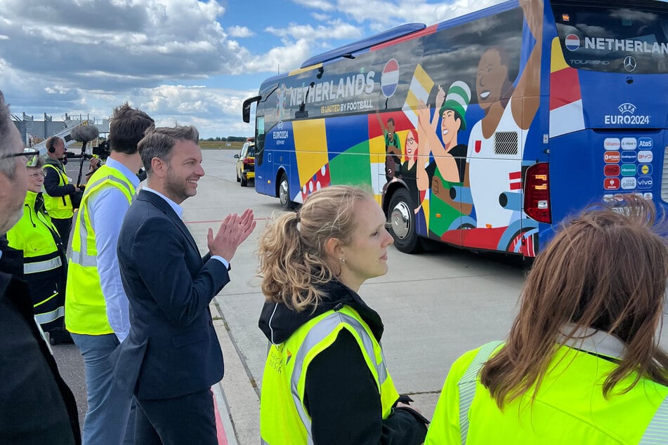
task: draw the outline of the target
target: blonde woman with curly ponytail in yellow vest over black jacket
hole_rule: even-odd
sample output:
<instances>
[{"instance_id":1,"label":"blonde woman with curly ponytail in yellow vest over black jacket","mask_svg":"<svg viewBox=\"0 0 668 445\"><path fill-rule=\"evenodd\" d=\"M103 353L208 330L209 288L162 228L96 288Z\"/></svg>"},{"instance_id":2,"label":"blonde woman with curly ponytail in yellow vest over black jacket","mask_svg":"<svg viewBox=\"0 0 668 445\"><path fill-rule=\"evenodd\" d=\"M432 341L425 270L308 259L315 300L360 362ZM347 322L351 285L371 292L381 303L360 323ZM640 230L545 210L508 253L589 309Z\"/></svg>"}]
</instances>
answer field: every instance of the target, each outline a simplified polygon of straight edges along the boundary
<instances>
[{"instance_id":1,"label":"blonde woman with curly ponytail in yellow vest over black jacket","mask_svg":"<svg viewBox=\"0 0 668 445\"><path fill-rule=\"evenodd\" d=\"M424 440L426 420L387 371L381 318L358 294L386 274L390 244L380 206L346 186L314 192L261 236L263 444Z\"/></svg>"}]
</instances>

